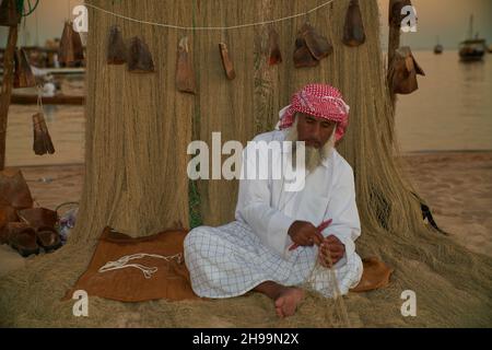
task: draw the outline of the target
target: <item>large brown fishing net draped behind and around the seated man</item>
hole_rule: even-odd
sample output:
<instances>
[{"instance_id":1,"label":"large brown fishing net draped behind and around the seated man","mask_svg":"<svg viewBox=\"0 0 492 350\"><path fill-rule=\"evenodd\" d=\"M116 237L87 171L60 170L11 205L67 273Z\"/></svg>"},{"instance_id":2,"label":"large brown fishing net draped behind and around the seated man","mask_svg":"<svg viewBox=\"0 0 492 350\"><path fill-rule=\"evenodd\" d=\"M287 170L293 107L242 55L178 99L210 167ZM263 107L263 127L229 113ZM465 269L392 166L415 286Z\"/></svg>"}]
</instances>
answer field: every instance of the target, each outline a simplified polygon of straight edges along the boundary
<instances>
[{"instance_id":1,"label":"large brown fishing net draped behind and around the seated man","mask_svg":"<svg viewBox=\"0 0 492 350\"><path fill-rule=\"evenodd\" d=\"M109 1L91 0L112 12L186 26L225 26L303 13L319 0ZM429 230L411 184L401 171L394 140L393 106L379 44L376 0L360 1L365 43L342 44L349 0L312 12L309 23L326 35L333 52L315 68L294 69L292 50L300 16L274 24L281 65L269 66L269 26L186 32L117 19L89 8L85 180L79 220L68 244L0 281L0 323L7 326L157 327L332 327L340 323L332 301L308 292L295 316L279 320L261 294L218 301L165 300L120 303L90 298L89 317L74 317L73 301L61 301L87 268L96 238L110 225L136 235L157 233L177 220L188 222L186 148L190 140L211 144L246 142L271 130L291 94L311 82L337 86L351 106L339 152L355 174L362 222L358 252L395 269L391 283L343 296L351 326L490 326L492 261ZM140 36L152 52L155 72L127 72L106 65L105 35L113 25L125 38ZM177 43L189 35L197 95L175 89ZM236 78L223 71L218 44L227 45ZM233 218L236 182L198 183L204 223ZM400 296L417 294L417 317L403 317ZM331 316L330 316L331 315ZM332 317L333 316L333 317Z\"/></svg>"}]
</instances>

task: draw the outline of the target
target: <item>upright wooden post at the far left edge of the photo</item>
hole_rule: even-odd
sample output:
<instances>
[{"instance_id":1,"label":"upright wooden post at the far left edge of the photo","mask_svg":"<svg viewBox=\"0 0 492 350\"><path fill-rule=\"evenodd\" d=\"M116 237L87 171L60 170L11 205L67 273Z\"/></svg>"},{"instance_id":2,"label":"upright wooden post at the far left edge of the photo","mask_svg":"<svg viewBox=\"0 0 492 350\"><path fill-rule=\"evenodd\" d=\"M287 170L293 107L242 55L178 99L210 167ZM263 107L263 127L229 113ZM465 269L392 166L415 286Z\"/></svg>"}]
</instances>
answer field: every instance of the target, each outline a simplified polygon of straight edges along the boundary
<instances>
[{"instance_id":1,"label":"upright wooden post at the far left edge of the photo","mask_svg":"<svg viewBox=\"0 0 492 350\"><path fill-rule=\"evenodd\" d=\"M3 56L3 81L0 94L0 171L5 166L7 121L13 81L13 57L17 43L17 26L9 27L9 38Z\"/></svg>"}]
</instances>

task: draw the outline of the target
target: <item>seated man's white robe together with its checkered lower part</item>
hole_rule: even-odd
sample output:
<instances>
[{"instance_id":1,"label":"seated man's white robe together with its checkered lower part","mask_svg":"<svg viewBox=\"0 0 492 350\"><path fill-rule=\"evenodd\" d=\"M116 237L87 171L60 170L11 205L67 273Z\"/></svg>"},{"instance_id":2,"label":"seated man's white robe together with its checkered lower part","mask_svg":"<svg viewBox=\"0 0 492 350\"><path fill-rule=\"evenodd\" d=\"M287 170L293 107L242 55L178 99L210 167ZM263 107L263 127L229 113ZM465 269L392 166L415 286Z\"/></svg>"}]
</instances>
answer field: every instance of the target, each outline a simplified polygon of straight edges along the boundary
<instances>
[{"instance_id":1,"label":"seated man's white robe together with its checkered lower part","mask_svg":"<svg viewBox=\"0 0 492 350\"><path fill-rule=\"evenodd\" d=\"M283 141L285 130L257 136L254 141ZM248 162L248 160L244 160ZM191 285L200 296L241 295L263 281L298 285L311 278L326 296L333 295L328 275L309 276L316 261L316 246L294 250L288 234L296 220L315 226L329 219L321 233L335 235L345 246L345 254L335 265L338 288L345 294L362 276L362 261L354 241L361 234L355 203L353 172L336 151L323 164L307 172L300 191L286 191L282 179L241 179L235 221L219 226L191 230L185 240L185 261Z\"/></svg>"}]
</instances>

